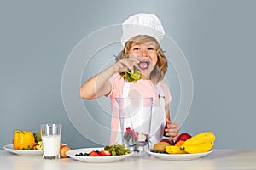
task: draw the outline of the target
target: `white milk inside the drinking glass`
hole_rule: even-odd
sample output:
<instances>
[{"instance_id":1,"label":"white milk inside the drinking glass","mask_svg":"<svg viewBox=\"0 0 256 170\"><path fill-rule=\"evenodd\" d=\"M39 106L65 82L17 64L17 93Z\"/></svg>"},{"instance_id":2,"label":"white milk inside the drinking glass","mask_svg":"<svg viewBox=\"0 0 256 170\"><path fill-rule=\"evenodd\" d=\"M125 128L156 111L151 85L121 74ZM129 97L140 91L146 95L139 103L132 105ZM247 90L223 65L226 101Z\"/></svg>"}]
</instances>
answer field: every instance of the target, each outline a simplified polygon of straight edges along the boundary
<instances>
[{"instance_id":1,"label":"white milk inside the drinking glass","mask_svg":"<svg viewBox=\"0 0 256 170\"><path fill-rule=\"evenodd\" d=\"M59 156L61 135L42 136L44 156Z\"/></svg>"}]
</instances>

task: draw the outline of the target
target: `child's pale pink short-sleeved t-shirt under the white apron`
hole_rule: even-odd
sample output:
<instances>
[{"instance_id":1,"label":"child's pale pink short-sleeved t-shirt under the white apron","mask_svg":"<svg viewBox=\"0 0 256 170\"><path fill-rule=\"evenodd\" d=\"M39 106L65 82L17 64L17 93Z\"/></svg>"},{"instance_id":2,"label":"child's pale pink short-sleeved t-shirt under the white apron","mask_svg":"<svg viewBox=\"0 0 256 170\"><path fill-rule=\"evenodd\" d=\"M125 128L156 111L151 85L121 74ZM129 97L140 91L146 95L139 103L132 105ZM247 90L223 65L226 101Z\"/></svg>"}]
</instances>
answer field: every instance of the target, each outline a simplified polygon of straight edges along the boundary
<instances>
[{"instance_id":1,"label":"child's pale pink short-sleeved t-shirt under the white apron","mask_svg":"<svg viewBox=\"0 0 256 170\"><path fill-rule=\"evenodd\" d=\"M119 74L113 75L110 78L110 82L112 83L112 89L108 96L111 99L112 103L112 119L111 119L111 137L110 144L115 144L117 133L119 130L119 110L118 103L115 98L122 98L123 96L123 88L125 85L124 78L121 78ZM168 105L172 101L172 96L170 94L169 88L167 87L165 82L159 82L160 88L165 95L165 105ZM160 90L154 85L150 80L138 80L136 83L131 82L129 87L130 97L138 97L142 96L143 98L153 98L154 102L159 102L159 94ZM161 96L163 97L163 96Z\"/></svg>"}]
</instances>

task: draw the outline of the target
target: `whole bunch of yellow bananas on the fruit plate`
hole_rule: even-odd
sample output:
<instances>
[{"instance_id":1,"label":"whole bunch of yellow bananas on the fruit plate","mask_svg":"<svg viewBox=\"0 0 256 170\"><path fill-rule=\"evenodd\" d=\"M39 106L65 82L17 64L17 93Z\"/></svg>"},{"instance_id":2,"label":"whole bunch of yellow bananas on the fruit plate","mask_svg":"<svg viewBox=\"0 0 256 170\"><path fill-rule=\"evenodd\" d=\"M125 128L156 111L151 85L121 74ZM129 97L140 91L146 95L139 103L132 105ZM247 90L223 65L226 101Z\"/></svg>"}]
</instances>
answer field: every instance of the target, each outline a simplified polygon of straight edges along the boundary
<instances>
[{"instance_id":1,"label":"whole bunch of yellow bananas on the fruit plate","mask_svg":"<svg viewBox=\"0 0 256 170\"><path fill-rule=\"evenodd\" d=\"M199 133L186 140L181 146L166 146L169 154L203 153L212 150L215 135L212 132Z\"/></svg>"}]
</instances>

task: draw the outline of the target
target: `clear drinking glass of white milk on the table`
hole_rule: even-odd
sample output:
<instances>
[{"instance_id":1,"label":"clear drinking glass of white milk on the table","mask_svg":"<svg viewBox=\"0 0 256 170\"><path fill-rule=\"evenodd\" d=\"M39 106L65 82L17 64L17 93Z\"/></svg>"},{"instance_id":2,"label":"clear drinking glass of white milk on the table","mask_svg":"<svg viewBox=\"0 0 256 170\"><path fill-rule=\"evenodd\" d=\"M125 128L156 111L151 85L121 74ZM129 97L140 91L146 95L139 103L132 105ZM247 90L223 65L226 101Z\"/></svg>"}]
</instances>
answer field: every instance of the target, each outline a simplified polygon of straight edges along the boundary
<instances>
[{"instance_id":1,"label":"clear drinking glass of white milk on the table","mask_svg":"<svg viewBox=\"0 0 256 170\"><path fill-rule=\"evenodd\" d=\"M59 159L61 145L61 124L43 124L40 126L43 141L44 159Z\"/></svg>"}]
</instances>

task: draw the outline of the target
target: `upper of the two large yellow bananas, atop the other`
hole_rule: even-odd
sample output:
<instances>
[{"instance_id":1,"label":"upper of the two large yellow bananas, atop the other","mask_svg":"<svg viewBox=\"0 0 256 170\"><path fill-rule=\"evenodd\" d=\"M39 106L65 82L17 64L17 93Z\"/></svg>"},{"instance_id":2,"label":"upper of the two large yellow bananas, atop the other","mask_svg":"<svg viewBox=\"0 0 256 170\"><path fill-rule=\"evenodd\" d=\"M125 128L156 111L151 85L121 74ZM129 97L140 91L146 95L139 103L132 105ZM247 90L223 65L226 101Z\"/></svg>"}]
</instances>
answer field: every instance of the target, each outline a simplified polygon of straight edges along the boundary
<instances>
[{"instance_id":1,"label":"upper of the two large yellow bananas, atop the other","mask_svg":"<svg viewBox=\"0 0 256 170\"><path fill-rule=\"evenodd\" d=\"M182 147L187 147L191 145L204 144L204 143L214 143L215 135L212 132L204 132L196 134L190 139L186 140Z\"/></svg>"}]
</instances>

